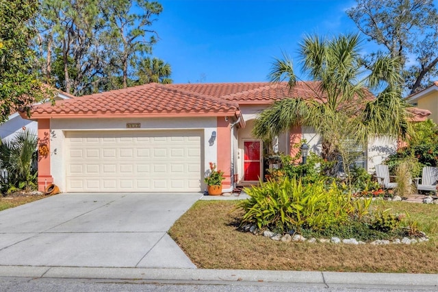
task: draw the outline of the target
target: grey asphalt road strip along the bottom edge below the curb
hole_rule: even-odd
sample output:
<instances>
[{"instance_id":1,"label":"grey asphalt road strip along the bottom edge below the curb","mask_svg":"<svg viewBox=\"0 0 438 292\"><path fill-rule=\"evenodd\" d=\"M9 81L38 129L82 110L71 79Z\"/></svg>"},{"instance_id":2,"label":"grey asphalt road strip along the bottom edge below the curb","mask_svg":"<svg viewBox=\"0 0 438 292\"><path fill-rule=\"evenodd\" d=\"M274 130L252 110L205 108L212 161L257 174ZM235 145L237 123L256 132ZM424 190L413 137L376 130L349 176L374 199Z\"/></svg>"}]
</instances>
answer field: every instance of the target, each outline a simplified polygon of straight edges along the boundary
<instances>
[{"instance_id":1,"label":"grey asphalt road strip along the bottom edge below the curb","mask_svg":"<svg viewBox=\"0 0 438 292\"><path fill-rule=\"evenodd\" d=\"M437 287L407 287L393 285L333 285L278 282L229 282L229 281L145 281L145 280L102 280L66 278L0 278L0 291L437 291Z\"/></svg>"}]
</instances>

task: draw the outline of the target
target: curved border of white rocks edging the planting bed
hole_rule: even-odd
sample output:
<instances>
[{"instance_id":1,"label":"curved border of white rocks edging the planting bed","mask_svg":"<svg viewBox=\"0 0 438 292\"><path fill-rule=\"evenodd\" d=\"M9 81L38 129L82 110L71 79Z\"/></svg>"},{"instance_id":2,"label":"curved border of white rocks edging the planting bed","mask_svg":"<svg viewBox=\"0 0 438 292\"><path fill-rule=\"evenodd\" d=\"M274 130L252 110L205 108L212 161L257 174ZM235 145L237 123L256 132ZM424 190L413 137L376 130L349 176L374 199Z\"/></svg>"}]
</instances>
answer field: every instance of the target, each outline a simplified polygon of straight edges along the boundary
<instances>
[{"instance_id":1,"label":"curved border of white rocks edging the planting bed","mask_svg":"<svg viewBox=\"0 0 438 292\"><path fill-rule=\"evenodd\" d=\"M254 235L263 235L265 237L268 237L272 239L273 241L283 241L283 242L307 242L307 243L333 243L333 244L339 244L344 243L347 245L364 245L367 244L363 241L357 241L356 239L339 239L339 237L333 236L331 239L315 239L312 237L311 239L306 239L304 236L300 234L279 234L272 232L270 230L264 230L263 232L257 228L257 226L252 224L246 224L242 230L245 232L251 232ZM422 232L422 237L420 238L409 238L409 237L403 237L402 239L394 239L392 241L389 241L387 239L377 239L376 241L372 241L368 244L370 245L389 245L389 244L404 244L404 245L411 245L415 243L423 243L426 241L429 241L428 236Z\"/></svg>"}]
</instances>

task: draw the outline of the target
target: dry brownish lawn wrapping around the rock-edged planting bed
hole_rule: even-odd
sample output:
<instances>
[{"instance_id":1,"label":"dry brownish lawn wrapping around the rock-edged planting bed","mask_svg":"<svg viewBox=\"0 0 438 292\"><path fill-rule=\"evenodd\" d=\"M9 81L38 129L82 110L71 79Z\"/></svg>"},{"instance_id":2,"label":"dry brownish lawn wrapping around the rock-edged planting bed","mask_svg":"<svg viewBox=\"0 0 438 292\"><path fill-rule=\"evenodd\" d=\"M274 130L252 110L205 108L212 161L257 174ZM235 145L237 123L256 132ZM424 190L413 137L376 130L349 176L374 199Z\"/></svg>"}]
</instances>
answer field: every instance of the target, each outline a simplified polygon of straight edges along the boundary
<instances>
[{"instance_id":1,"label":"dry brownish lawn wrapping around the rock-edged planting bed","mask_svg":"<svg viewBox=\"0 0 438 292\"><path fill-rule=\"evenodd\" d=\"M384 202L379 208L407 211L430 241L415 245L283 243L240 232L235 202L199 201L169 231L197 267L438 273L438 205Z\"/></svg>"}]
</instances>

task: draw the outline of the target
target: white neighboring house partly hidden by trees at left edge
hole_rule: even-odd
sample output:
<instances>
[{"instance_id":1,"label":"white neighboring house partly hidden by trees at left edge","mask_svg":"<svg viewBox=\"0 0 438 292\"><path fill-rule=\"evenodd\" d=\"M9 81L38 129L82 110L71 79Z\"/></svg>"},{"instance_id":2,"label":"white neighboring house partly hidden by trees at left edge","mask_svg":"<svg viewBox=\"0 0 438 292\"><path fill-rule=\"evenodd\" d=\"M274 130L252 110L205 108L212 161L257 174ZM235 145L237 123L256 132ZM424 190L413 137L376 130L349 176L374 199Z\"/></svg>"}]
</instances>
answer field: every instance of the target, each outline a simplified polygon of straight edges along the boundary
<instances>
[{"instance_id":1,"label":"white neighboring house partly hidden by trees at left edge","mask_svg":"<svg viewBox=\"0 0 438 292\"><path fill-rule=\"evenodd\" d=\"M64 92L57 92L55 100L70 99L73 95ZM23 130L30 130L36 134L38 123L29 119L24 119L18 112L14 112L4 123L0 123L0 138L3 141L10 140L16 136L16 133Z\"/></svg>"}]
</instances>

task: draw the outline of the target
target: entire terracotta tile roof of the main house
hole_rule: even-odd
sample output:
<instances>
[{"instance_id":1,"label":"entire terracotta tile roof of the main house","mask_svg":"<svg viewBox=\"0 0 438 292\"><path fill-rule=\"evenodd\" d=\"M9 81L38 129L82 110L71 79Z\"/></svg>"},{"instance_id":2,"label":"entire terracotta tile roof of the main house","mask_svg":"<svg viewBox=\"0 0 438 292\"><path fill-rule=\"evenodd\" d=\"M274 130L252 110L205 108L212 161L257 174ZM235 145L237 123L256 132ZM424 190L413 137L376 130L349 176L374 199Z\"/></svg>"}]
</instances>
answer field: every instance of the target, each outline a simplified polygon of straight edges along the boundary
<instances>
[{"instance_id":1,"label":"entire terracotta tile roof of the main house","mask_svg":"<svg viewBox=\"0 0 438 292\"><path fill-rule=\"evenodd\" d=\"M374 95L365 90L366 98ZM243 104L272 104L285 97L326 99L320 82L297 82L289 90L285 82L145 84L106 93L96 93L43 104L32 110L31 118L63 117L163 117L233 116ZM424 112L414 112L423 119ZM421 116L421 117L420 117Z\"/></svg>"}]
</instances>

